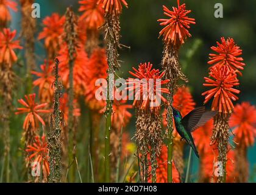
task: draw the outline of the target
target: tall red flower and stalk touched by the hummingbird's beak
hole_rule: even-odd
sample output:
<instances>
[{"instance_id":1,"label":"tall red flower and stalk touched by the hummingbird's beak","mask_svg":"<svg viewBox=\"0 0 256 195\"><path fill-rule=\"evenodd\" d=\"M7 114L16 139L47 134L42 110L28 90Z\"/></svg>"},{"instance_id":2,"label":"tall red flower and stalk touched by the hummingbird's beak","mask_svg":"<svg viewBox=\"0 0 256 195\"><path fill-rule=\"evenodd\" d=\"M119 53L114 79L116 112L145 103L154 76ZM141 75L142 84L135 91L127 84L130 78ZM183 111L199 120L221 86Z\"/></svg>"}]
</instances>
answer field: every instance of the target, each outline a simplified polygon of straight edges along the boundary
<instances>
[{"instance_id":1,"label":"tall red flower and stalk touched by the hummingbird's beak","mask_svg":"<svg viewBox=\"0 0 256 195\"><path fill-rule=\"evenodd\" d=\"M167 116L167 129L168 129L168 182L172 182L172 151L173 151L173 116L171 105L173 103L173 96L177 90L177 82L179 79L188 82L185 74L182 73L182 69L179 64L179 48L185 43L187 37L191 37L188 29L190 24L195 24L194 18L188 18L187 14L191 10L186 10L186 5L180 5L177 0L178 7L172 7L172 11L166 6L163 6L165 15L170 16L169 19L158 19L161 26L165 26L160 31L160 36L163 36L163 59L162 68L165 70L165 79L169 79L167 87L170 93L167 96L169 104L166 105Z\"/></svg>"}]
</instances>

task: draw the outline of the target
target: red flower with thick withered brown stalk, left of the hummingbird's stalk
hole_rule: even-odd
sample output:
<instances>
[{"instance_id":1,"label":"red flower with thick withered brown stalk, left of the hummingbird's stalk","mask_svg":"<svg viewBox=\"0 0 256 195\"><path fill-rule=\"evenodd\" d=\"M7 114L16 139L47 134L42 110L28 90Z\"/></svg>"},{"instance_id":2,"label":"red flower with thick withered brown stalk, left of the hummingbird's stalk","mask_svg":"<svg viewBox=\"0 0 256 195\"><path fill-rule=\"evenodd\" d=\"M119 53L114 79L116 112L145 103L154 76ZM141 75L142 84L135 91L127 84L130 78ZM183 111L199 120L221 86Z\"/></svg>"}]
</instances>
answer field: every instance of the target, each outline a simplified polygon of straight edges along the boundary
<instances>
[{"instance_id":1,"label":"red flower with thick withered brown stalk, left of the hummingbird's stalk","mask_svg":"<svg viewBox=\"0 0 256 195\"><path fill-rule=\"evenodd\" d=\"M133 68L135 73L129 72L136 79L127 79L128 90L135 93L135 101L133 101L137 113L135 138L141 158L139 160L141 182L144 183L148 182L149 165L151 165L152 182L156 182L157 156L160 154L163 141L160 101L166 103L162 93L169 93L167 88L162 88L162 85L169 82L169 80L161 80L165 72L160 73L158 69L152 69L152 66L151 63L141 63L138 69Z\"/></svg>"}]
</instances>

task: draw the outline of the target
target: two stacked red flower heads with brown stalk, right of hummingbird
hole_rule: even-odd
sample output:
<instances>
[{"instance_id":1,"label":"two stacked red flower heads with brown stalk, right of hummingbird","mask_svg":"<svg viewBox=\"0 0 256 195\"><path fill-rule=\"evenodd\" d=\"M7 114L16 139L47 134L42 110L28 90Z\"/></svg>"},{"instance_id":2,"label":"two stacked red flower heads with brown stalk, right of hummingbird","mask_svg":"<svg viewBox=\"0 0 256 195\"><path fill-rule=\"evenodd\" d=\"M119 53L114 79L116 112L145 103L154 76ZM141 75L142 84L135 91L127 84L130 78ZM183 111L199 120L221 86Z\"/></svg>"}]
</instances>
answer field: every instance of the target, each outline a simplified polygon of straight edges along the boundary
<instances>
[{"instance_id":1,"label":"two stacked red flower heads with brown stalk, right of hummingbird","mask_svg":"<svg viewBox=\"0 0 256 195\"><path fill-rule=\"evenodd\" d=\"M243 58L239 57L242 50L235 44L233 38L225 40L221 37L221 43L213 46L212 50L218 54L209 54L210 67L209 77L205 77L205 87L212 87L211 90L202 93L205 96L204 104L213 98L212 110L218 111L214 118L214 128L211 137L211 145L217 144L218 161L221 162L223 171L219 174L218 182L226 182L226 163L229 147L229 117L233 112L233 102L237 101L236 94L240 93L235 87L240 85L237 74L241 75L239 69L245 65Z\"/></svg>"}]
</instances>

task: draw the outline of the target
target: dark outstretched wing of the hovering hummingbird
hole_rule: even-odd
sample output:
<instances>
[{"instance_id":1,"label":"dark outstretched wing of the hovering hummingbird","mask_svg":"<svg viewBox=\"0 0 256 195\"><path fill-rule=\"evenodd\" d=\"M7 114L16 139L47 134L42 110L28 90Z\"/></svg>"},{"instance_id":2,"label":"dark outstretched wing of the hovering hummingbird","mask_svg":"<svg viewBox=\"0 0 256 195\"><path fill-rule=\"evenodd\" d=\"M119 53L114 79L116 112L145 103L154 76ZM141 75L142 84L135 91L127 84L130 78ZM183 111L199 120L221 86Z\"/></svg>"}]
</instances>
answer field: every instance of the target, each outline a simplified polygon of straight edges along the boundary
<instances>
[{"instance_id":1,"label":"dark outstretched wing of the hovering hummingbird","mask_svg":"<svg viewBox=\"0 0 256 195\"><path fill-rule=\"evenodd\" d=\"M188 132L193 132L198 127L203 126L215 115L215 111L205 112L205 107L197 107L183 117L182 124Z\"/></svg>"}]
</instances>

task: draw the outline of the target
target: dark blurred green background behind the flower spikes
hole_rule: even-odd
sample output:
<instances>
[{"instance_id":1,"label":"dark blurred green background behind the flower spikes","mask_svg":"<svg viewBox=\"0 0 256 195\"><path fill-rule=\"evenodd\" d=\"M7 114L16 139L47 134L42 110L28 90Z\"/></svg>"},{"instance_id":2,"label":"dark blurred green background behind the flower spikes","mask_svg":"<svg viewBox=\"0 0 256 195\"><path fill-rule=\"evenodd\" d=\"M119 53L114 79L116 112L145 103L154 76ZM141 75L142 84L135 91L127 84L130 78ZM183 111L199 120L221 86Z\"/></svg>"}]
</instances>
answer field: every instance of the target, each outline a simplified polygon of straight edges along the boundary
<instances>
[{"instance_id":1,"label":"dark blurred green background behind the flower spikes","mask_svg":"<svg viewBox=\"0 0 256 195\"><path fill-rule=\"evenodd\" d=\"M41 21L45 16L51 15L52 12L58 12L61 15L65 13L68 5L73 5L74 10L78 10L78 1L72 0L39 0L35 1L40 4L41 18L38 19L38 32L42 29ZM163 44L161 38L158 39L158 32L162 29L157 19L165 18L163 16L162 5L171 9L177 5L176 0L127 0L129 9L124 9L121 16L121 43L130 46L130 49L122 49L120 60L123 61L119 76L128 77L128 71L132 66L137 66L141 62L151 62L155 68L161 68ZM255 104L256 90L256 1L255 0L187 0L185 2L187 9L192 10L191 18L196 19L196 25L191 25L190 34L187 42L180 49L180 62L183 71L190 82L194 100L197 105L202 105L204 97L201 93L205 91L202 87L204 76L208 74L208 54L210 47L216 45L216 41L224 36L232 37L243 49L243 58L246 66L243 76L239 77L241 90L239 102L249 101ZM215 18L215 4L221 3L224 7L224 18ZM13 13L12 28L20 28L20 13ZM37 43L38 64L43 62L43 43ZM20 98L20 97L19 97ZM210 104L207 104L209 107ZM135 119L129 124L132 132L135 130ZM187 157L187 150L186 157ZM256 147L249 149L250 163L250 182L256 182ZM193 157L192 172L196 179L198 161Z\"/></svg>"}]
</instances>

